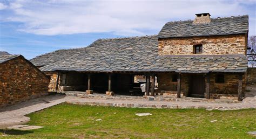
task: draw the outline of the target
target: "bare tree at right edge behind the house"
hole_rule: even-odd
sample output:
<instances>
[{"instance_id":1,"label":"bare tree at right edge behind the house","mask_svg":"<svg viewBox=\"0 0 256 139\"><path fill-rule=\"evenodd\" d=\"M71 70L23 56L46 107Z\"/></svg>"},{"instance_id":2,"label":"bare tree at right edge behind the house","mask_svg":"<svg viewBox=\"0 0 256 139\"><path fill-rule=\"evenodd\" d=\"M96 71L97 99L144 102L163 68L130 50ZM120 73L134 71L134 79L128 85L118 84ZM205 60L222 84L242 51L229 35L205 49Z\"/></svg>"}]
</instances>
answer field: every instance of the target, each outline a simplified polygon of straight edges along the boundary
<instances>
[{"instance_id":1,"label":"bare tree at right edge behind the house","mask_svg":"<svg viewBox=\"0 0 256 139\"><path fill-rule=\"evenodd\" d=\"M248 66L255 67L256 66L256 36L251 36L248 39L248 47L251 49L247 51L247 58L248 58Z\"/></svg>"}]
</instances>

